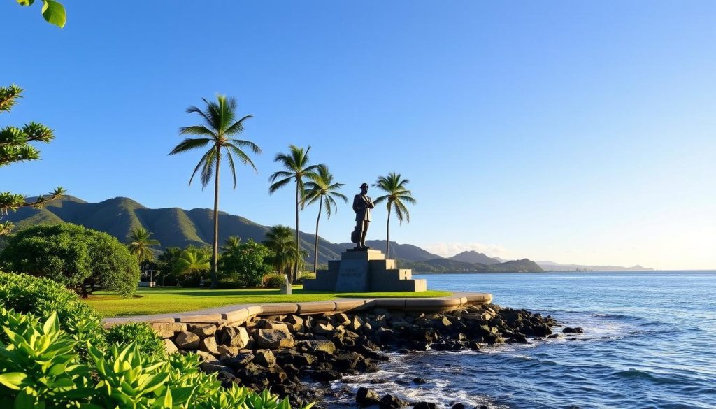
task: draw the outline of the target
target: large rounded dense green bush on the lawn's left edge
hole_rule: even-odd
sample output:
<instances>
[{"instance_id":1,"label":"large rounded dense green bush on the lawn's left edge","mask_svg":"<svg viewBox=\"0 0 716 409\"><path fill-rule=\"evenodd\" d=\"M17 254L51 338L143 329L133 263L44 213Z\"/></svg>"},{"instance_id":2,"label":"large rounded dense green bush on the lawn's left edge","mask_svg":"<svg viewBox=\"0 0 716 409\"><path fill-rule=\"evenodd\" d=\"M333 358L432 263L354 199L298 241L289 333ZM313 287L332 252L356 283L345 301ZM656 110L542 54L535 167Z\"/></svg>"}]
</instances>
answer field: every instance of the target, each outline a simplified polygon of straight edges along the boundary
<instances>
[{"instance_id":1,"label":"large rounded dense green bush on the lawn's left edge","mask_svg":"<svg viewBox=\"0 0 716 409\"><path fill-rule=\"evenodd\" d=\"M109 234L72 223L32 226L8 239L7 268L42 276L86 297L97 287L130 297L140 270L127 247Z\"/></svg>"}]
</instances>

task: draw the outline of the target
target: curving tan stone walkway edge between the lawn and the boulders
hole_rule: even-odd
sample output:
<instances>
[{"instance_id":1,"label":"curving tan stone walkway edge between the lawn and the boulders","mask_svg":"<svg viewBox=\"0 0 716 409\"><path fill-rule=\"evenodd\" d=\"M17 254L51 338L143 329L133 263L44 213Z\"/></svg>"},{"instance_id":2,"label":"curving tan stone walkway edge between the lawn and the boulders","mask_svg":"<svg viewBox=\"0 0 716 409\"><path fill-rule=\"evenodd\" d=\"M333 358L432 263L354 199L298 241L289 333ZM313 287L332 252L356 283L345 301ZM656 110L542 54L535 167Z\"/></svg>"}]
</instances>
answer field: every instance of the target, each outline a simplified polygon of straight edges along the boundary
<instances>
[{"instance_id":1,"label":"curving tan stone walkway edge between the lawn and the boulders","mask_svg":"<svg viewBox=\"0 0 716 409\"><path fill-rule=\"evenodd\" d=\"M449 297L434 298L339 298L330 301L281 302L276 304L233 304L197 311L168 314L135 315L105 318L105 326L123 322L192 322L234 324L256 315L325 314L370 308L406 309L412 311L444 311L466 304L488 304L492 294L484 292L455 292Z\"/></svg>"}]
</instances>

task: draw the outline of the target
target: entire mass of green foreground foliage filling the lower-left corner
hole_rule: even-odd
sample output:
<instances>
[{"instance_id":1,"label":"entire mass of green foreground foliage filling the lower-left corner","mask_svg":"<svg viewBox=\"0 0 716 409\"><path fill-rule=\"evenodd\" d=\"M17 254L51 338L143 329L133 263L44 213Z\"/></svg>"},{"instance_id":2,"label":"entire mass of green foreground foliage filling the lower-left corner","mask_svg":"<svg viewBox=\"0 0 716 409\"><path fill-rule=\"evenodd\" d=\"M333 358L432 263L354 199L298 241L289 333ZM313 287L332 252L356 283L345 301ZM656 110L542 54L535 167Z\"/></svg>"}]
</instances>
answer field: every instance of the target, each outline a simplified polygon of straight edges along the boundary
<instances>
[{"instance_id":1,"label":"entire mass of green foreground foliage filling the lower-left corner","mask_svg":"<svg viewBox=\"0 0 716 409\"><path fill-rule=\"evenodd\" d=\"M223 388L196 354L166 355L146 324L105 332L49 279L0 272L0 327L0 408L291 408L268 390Z\"/></svg>"}]
</instances>

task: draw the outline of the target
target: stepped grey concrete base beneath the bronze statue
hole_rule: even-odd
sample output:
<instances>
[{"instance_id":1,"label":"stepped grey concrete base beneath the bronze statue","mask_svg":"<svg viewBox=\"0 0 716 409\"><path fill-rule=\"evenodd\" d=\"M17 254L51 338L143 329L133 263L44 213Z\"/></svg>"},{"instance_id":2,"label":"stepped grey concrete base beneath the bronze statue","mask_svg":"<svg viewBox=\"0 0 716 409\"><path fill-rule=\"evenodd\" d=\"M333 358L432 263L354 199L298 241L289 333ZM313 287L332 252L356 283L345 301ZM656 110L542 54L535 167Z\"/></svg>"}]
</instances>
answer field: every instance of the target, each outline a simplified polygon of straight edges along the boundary
<instances>
[{"instance_id":1,"label":"stepped grey concrete base beneath the bronze statue","mask_svg":"<svg viewBox=\"0 0 716 409\"><path fill-rule=\"evenodd\" d=\"M340 260L328 262L327 270L316 271L316 279L304 280L309 291L421 292L425 279L413 279L412 271L397 269L395 260L379 250L349 250Z\"/></svg>"}]
</instances>

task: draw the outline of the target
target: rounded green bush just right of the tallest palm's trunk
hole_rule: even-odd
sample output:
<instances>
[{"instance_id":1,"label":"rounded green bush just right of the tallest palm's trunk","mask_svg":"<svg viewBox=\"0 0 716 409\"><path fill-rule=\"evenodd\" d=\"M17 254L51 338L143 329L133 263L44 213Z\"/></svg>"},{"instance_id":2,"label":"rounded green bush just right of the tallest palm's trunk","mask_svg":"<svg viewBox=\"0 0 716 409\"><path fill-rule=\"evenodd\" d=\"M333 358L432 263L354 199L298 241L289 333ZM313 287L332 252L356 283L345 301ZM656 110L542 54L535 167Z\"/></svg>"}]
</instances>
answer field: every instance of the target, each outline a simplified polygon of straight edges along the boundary
<instances>
[{"instance_id":1,"label":"rounded green bush just right of the tallest palm's trunk","mask_svg":"<svg viewBox=\"0 0 716 409\"><path fill-rule=\"evenodd\" d=\"M249 240L225 251L219 259L219 276L225 281L238 282L246 287L258 287L261 278L273 268L266 260L272 253L268 247Z\"/></svg>"}]
</instances>

